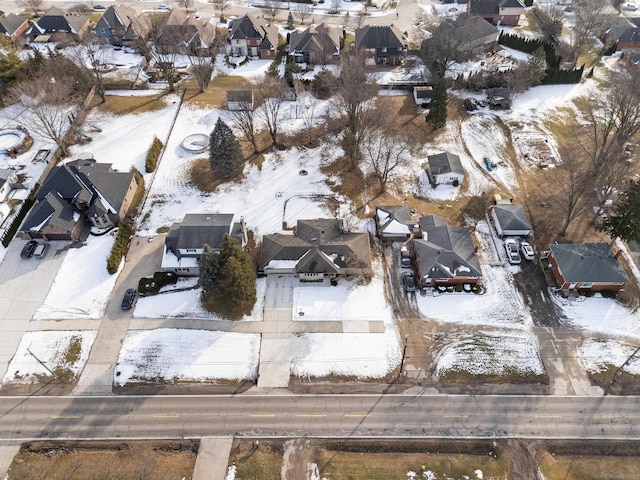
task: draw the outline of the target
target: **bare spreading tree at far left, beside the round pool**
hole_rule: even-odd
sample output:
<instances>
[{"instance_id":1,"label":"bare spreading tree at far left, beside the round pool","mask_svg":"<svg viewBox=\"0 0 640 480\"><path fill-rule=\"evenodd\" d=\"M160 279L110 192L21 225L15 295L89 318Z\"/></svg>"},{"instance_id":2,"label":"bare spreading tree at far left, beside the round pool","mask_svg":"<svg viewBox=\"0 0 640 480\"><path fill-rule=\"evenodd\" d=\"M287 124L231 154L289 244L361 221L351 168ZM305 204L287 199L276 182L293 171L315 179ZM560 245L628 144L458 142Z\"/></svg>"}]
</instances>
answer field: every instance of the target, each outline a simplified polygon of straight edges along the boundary
<instances>
[{"instance_id":1,"label":"bare spreading tree at far left, beside the round pool","mask_svg":"<svg viewBox=\"0 0 640 480\"><path fill-rule=\"evenodd\" d=\"M12 103L20 102L25 107L20 122L55 142L63 156L68 155L64 137L79 103L70 82L41 76L24 80L9 92Z\"/></svg>"}]
</instances>

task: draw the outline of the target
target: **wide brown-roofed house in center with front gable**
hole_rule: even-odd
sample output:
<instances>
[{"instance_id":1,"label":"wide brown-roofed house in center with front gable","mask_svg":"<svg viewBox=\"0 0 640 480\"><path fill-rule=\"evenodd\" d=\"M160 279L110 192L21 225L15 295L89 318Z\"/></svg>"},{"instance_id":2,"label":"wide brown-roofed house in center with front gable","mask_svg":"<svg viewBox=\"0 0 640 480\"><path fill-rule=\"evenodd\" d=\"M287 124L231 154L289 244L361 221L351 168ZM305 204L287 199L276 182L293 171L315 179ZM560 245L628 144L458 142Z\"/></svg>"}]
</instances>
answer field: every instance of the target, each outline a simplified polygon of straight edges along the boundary
<instances>
[{"instance_id":1,"label":"wide brown-roofed house in center with front gable","mask_svg":"<svg viewBox=\"0 0 640 480\"><path fill-rule=\"evenodd\" d=\"M369 234L344 230L342 220L298 220L294 234L262 239L260 271L297 275L304 281L361 274L371 268Z\"/></svg>"}]
</instances>

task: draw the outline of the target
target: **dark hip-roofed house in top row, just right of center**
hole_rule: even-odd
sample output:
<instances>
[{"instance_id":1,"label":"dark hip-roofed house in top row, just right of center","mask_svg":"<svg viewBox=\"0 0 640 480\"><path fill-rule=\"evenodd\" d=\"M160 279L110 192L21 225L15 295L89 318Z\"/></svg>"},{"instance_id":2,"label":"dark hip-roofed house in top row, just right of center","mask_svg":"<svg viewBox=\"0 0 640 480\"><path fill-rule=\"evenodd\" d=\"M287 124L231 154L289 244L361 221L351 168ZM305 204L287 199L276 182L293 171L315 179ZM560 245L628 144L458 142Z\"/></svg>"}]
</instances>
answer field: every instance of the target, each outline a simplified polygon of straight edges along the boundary
<instances>
[{"instance_id":1,"label":"dark hip-roofed house in top row, just right of center","mask_svg":"<svg viewBox=\"0 0 640 480\"><path fill-rule=\"evenodd\" d=\"M356 48L364 51L371 63L383 65L400 65L406 51L402 32L393 26L356 29Z\"/></svg>"}]
</instances>

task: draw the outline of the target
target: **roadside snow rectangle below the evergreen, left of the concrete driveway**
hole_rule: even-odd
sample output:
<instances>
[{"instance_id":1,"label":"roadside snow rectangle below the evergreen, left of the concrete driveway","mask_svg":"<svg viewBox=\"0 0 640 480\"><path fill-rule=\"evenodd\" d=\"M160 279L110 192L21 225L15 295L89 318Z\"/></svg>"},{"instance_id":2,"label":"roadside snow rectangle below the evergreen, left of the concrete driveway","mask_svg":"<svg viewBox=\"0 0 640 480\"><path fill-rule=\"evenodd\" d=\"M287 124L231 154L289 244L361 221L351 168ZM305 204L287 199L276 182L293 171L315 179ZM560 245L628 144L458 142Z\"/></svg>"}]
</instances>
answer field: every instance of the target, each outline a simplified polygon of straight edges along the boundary
<instances>
[{"instance_id":1,"label":"roadside snow rectangle below the evergreen, left of the concrete driveway","mask_svg":"<svg viewBox=\"0 0 640 480\"><path fill-rule=\"evenodd\" d=\"M255 378L260 335L159 328L130 331L114 383L206 382Z\"/></svg>"}]
</instances>

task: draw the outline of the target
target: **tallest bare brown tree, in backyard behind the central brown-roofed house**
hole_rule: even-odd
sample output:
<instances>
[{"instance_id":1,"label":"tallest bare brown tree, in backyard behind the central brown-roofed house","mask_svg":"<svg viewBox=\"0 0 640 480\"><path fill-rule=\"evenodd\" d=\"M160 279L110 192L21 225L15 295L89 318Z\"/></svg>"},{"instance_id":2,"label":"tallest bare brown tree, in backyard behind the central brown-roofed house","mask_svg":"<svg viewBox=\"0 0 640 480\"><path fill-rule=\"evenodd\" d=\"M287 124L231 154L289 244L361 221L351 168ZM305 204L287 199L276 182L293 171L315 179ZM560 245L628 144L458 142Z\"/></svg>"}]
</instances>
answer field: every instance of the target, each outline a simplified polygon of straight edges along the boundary
<instances>
[{"instance_id":1,"label":"tallest bare brown tree, in backyard behind the central brown-roofed house","mask_svg":"<svg viewBox=\"0 0 640 480\"><path fill-rule=\"evenodd\" d=\"M377 86L370 81L365 69L363 54L354 50L343 55L332 102L335 110L346 121L343 147L353 170L358 168L363 141L376 126L377 90Z\"/></svg>"}]
</instances>

